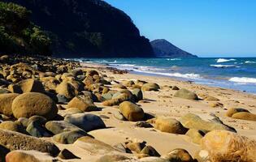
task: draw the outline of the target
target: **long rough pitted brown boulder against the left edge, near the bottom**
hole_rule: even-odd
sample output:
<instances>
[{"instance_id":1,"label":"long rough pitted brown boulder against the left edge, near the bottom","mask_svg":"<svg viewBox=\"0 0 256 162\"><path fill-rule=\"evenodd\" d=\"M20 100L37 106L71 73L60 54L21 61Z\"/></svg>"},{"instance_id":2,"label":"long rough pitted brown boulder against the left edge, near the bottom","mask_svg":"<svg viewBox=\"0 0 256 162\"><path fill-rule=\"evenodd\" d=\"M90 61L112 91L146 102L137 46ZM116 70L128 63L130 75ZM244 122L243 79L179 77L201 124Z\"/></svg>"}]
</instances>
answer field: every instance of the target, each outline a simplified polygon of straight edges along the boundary
<instances>
[{"instance_id":1,"label":"long rough pitted brown boulder against the left edge, near the bottom","mask_svg":"<svg viewBox=\"0 0 256 162\"><path fill-rule=\"evenodd\" d=\"M54 143L25 134L0 129L0 137L0 145L7 147L10 151L37 150L41 152L48 152L51 156L57 156L59 154L59 148L56 147Z\"/></svg>"}]
</instances>

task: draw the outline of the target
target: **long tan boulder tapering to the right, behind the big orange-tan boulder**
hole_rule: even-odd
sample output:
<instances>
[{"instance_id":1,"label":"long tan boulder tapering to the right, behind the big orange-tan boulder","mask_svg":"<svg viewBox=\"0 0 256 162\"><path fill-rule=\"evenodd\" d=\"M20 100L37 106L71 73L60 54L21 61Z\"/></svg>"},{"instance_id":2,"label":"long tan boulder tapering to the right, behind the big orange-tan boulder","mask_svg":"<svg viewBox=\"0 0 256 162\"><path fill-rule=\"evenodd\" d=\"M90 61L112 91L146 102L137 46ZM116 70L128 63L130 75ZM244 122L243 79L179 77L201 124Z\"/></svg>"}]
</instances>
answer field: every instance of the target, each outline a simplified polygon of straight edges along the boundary
<instances>
[{"instance_id":1,"label":"long tan boulder tapering to the right, behind the big orange-tan boulder","mask_svg":"<svg viewBox=\"0 0 256 162\"><path fill-rule=\"evenodd\" d=\"M188 113L180 118L181 124L189 129L196 129L196 130L229 130L229 131L235 131L229 126L224 125L221 122L215 122L215 121L204 121L201 117L198 117L197 115L193 113Z\"/></svg>"}]
</instances>

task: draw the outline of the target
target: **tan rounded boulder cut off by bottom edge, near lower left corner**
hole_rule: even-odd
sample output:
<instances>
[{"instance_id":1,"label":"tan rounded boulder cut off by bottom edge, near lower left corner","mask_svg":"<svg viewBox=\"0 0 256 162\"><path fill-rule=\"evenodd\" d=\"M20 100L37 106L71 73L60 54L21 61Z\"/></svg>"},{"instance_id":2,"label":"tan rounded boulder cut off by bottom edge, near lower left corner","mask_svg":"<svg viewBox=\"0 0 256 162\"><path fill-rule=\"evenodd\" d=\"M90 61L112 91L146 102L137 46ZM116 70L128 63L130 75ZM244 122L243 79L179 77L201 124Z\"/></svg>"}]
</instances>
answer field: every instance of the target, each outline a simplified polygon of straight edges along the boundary
<instances>
[{"instance_id":1,"label":"tan rounded boulder cut off by bottom edge, near lower left corner","mask_svg":"<svg viewBox=\"0 0 256 162\"><path fill-rule=\"evenodd\" d=\"M11 151L6 156L7 162L54 162L56 158L40 151Z\"/></svg>"}]
</instances>

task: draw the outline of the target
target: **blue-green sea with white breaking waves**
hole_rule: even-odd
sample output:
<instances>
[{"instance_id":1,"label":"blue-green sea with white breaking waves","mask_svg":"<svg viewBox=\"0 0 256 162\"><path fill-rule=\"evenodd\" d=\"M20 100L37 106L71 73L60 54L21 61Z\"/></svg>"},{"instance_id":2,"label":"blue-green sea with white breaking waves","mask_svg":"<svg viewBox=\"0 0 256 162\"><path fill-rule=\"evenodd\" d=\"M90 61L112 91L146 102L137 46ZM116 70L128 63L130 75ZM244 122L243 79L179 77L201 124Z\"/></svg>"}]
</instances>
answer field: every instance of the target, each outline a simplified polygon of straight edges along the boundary
<instances>
[{"instance_id":1,"label":"blue-green sea with white breaking waves","mask_svg":"<svg viewBox=\"0 0 256 162\"><path fill-rule=\"evenodd\" d=\"M76 61L256 94L256 58L80 58Z\"/></svg>"}]
</instances>

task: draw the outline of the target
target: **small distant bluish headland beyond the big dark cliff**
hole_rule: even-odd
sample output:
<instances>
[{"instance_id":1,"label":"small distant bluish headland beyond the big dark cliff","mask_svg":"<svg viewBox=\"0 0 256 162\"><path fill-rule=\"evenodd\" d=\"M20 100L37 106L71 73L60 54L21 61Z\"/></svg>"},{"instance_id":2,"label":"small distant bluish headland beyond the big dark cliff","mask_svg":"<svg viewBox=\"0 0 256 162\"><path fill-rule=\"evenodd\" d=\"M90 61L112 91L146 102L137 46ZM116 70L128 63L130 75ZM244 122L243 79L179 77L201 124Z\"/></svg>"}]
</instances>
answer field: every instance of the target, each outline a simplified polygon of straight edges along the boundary
<instances>
[{"instance_id":1,"label":"small distant bluish headland beyond the big dark cliff","mask_svg":"<svg viewBox=\"0 0 256 162\"><path fill-rule=\"evenodd\" d=\"M196 55L188 53L172 45L167 40L153 40L150 42L156 57L166 58L197 58Z\"/></svg>"}]
</instances>

